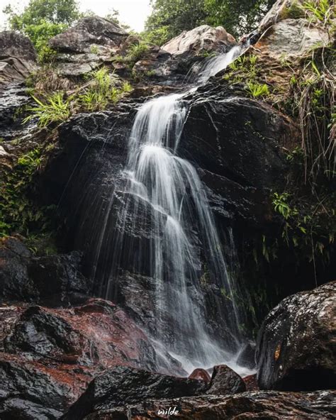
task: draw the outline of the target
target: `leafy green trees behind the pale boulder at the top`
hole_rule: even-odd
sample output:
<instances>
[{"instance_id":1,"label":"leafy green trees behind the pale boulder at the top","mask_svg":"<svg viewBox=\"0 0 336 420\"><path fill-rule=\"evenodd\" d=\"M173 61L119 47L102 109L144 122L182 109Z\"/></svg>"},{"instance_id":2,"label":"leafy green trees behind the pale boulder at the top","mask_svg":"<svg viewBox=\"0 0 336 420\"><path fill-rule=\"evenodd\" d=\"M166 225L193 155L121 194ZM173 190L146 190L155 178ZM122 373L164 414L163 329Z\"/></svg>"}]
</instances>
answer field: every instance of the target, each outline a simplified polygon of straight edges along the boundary
<instances>
[{"instance_id":1,"label":"leafy green trees behind the pale boulder at the top","mask_svg":"<svg viewBox=\"0 0 336 420\"><path fill-rule=\"evenodd\" d=\"M145 35L159 45L204 23L235 36L254 30L275 0L152 0ZM160 38L161 37L161 38Z\"/></svg>"}]
</instances>

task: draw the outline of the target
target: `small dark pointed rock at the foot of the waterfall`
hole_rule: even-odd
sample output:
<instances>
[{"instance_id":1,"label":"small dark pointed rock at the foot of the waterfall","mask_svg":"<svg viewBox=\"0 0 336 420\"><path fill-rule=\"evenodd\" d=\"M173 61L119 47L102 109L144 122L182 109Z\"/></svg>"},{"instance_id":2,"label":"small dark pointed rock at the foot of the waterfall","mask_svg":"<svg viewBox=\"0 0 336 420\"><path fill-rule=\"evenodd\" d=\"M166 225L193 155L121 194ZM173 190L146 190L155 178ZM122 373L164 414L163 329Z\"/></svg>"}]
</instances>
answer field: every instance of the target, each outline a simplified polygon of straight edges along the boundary
<instances>
[{"instance_id":1,"label":"small dark pointed rock at the foot of the waterfall","mask_svg":"<svg viewBox=\"0 0 336 420\"><path fill-rule=\"evenodd\" d=\"M245 390L245 382L230 367L226 365L213 367L213 375L211 377L210 387L206 392L207 394L237 394L237 392L244 392Z\"/></svg>"}]
</instances>

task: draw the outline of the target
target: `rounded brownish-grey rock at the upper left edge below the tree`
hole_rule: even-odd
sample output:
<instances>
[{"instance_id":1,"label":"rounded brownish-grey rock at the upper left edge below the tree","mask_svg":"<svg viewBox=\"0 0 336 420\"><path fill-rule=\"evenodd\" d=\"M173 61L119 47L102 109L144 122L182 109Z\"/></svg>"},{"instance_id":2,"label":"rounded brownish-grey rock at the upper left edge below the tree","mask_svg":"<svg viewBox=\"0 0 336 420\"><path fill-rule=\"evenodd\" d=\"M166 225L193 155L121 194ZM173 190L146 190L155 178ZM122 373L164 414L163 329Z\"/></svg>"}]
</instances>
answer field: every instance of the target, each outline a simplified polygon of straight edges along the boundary
<instances>
[{"instance_id":1,"label":"rounded brownish-grey rock at the upper left edge below the tree","mask_svg":"<svg viewBox=\"0 0 336 420\"><path fill-rule=\"evenodd\" d=\"M36 68L36 52L26 36L15 31L0 33L0 92L8 82L20 82Z\"/></svg>"}]
</instances>

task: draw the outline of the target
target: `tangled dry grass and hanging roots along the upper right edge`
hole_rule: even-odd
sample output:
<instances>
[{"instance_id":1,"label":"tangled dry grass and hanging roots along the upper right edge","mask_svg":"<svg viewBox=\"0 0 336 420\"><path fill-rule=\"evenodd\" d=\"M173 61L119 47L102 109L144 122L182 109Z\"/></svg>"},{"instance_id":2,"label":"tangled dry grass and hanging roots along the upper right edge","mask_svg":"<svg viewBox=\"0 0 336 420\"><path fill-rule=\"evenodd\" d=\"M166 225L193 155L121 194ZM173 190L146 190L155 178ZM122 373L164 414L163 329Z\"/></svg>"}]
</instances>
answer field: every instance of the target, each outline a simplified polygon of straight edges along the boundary
<instances>
[{"instance_id":1,"label":"tangled dry grass and hanging roots along the upper right edge","mask_svg":"<svg viewBox=\"0 0 336 420\"><path fill-rule=\"evenodd\" d=\"M335 49L315 48L295 80L292 76L288 92L288 111L301 128L304 181L312 185L318 177L335 175L335 77L328 62L335 62Z\"/></svg>"}]
</instances>

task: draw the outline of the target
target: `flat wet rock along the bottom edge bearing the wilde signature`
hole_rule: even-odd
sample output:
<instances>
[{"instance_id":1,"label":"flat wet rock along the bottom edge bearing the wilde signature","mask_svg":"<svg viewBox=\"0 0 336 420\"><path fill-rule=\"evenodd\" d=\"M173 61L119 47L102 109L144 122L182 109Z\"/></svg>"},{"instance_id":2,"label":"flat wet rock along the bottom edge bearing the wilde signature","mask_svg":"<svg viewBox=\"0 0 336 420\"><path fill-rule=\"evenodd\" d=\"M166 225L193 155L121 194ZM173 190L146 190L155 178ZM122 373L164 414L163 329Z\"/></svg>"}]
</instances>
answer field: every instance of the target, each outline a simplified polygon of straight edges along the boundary
<instances>
[{"instance_id":1,"label":"flat wet rock along the bottom edge bearing the wilde signature","mask_svg":"<svg viewBox=\"0 0 336 420\"><path fill-rule=\"evenodd\" d=\"M97 409L78 420L167 419L162 411L179 411L183 420L332 420L335 418L335 391L243 392L228 397L213 395L179 399L149 400L135 405ZM176 411L175 411L176 412ZM65 419L70 417L65 417ZM172 416L173 418L173 416Z\"/></svg>"}]
</instances>

